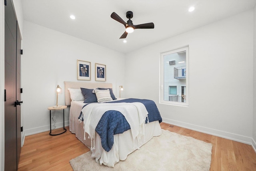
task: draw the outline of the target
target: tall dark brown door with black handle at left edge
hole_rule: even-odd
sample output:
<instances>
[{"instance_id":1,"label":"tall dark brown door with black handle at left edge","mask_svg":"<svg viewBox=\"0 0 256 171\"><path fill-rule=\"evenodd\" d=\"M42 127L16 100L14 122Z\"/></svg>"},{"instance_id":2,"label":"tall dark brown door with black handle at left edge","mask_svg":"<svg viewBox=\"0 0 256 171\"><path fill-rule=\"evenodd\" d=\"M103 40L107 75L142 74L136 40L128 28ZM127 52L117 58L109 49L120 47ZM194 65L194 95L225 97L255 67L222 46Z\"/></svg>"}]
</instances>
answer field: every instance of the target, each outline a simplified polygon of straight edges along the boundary
<instances>
[{"instance_id":1,"label":"tall dark brown door with black handle at left edge","mask_svg":"<svg viewBox=\"0 0 256 171\"><path fill-rule=\"evenodd\" d=\"M7 0L4 11L4 87L6 91L4 102L4 169L5 171L16 171L18 168L18 155L20 155L21 148L20 109L15 107L15 101L17 97L20 97L18 95L20 91L17 93L17 84L20 84L20 61L18 60L17 62L18 46L20 46L20 43L17 44L17 40L20 41L20 35L18 33L19 38L17 39L18 26L11 0ZM17 82L17 80L19 81Z\"/></svg>"}]
</instances>

